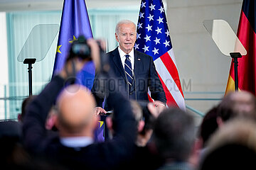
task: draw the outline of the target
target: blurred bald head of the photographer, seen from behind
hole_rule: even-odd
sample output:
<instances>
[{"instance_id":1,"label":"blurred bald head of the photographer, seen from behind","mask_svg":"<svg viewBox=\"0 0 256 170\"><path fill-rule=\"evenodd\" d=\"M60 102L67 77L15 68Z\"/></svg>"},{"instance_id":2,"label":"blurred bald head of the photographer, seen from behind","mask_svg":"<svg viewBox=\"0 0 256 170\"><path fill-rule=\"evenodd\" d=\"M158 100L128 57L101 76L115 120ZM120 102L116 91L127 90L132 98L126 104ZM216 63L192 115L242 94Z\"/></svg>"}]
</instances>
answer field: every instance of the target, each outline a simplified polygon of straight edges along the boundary
<instances>
[{"instance_id":1,"label":"blurred bald head of the photographer, seen from behind","mask_svg":"<svg viewBox=\"0 0 256 170\"><path fill-rule=\"evenodd\" d=\"M95 100L83 86L71 85L64 89L58 101L60 131L70 135L92 131Z\"/></svg>"}]
</instances>

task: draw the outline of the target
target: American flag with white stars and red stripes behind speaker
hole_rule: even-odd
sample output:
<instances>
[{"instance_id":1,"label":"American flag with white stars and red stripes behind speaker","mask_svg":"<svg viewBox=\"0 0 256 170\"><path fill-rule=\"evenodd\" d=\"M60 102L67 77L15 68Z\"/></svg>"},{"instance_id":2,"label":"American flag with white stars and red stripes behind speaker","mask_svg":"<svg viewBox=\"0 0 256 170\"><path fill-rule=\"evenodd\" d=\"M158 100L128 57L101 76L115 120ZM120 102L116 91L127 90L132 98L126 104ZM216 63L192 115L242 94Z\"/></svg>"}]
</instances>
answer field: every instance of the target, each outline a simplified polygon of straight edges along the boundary
<instances>
[{"instance_id":1,"label":"American flag with white stars and red stripes behind speaker","mask_svg":"<svg viewBox=\"0 0 256 170\"><path fill-rule=\"evenodd\" d=\"M161 0L142 0L135 50L153 57L166 94L167 105L185 109L181 81Z\"/></svg>"}]
</instances>

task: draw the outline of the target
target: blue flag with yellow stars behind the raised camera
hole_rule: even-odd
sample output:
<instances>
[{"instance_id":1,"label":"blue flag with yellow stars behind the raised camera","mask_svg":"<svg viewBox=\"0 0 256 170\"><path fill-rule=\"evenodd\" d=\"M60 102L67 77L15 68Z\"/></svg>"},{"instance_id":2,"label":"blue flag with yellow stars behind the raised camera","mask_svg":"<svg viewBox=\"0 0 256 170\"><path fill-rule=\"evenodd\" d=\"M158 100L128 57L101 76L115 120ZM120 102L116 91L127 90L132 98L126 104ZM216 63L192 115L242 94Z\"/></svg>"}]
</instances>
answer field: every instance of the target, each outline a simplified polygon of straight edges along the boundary
<instances>
[{"instance_id":1,"label":"blue flag with yellow stars behind the raised camera","mask_svg":"<svg viewBox=\"0 0 256 170\"><path fill-rule=\"evenodd\" d=\"M84 0L65 0L60 23L58 45L56 50L53 75L63 68L65 59L69 55L70 45L80 35L92 38L92 29ZM85 65L78 73L77 82L91 89L95 76L95 67L92 62Z\"/></svg>"}]
</instances>

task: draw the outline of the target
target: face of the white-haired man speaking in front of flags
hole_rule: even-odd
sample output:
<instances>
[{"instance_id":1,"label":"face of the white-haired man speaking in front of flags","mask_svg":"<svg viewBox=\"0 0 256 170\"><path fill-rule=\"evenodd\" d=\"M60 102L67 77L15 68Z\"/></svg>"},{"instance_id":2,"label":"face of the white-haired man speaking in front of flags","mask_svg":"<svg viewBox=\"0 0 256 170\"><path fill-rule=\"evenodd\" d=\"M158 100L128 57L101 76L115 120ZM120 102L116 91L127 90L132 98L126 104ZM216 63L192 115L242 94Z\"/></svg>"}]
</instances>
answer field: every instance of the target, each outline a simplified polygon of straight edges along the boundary
<instances>
[{"instance_id":1,"label":"face of the white-haired man speaking in front of flags","mask_svg":"<svg viewBox=\"0 0 256 170\"><path fill-rule=\"evenodd\" d=\"M117 42L119 42L119 47L127 54L132 51L136 36L136 28L132 23L121 24L118 32L115 33L115 38Z\"/></svg>"}]
</instances>

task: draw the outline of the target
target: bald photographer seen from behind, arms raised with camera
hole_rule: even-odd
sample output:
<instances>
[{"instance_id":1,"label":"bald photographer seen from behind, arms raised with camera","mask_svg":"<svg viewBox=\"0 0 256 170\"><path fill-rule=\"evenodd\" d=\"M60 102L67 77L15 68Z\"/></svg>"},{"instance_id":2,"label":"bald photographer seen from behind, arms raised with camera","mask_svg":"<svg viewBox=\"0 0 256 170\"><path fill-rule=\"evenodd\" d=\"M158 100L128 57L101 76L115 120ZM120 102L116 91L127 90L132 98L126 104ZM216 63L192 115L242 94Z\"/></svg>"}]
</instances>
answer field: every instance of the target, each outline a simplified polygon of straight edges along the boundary
<instances>
[{"instance_id":1,"label":"bald photographer seen from behind, arms raised with camera","mask_svg":"<svg viewBox=\"0 0 256 170\"><path fill-rule=\"evenodd\" d=\"M95 66L99 67L99 45L92 39L86 43L90 47L90 57ZM75 44L76 42L73 45ZM72 84L72 79L70 82L70 77L75 76L90 57L68 57L60 74L55 75L41 94L30 103L23 124L24 142L32 154L43 155L67 169L120 169L120 164L133 152L135 120L129 101L115 92L110 93L109 98L117 120L116 137L108 142L93 142L93 132L98 120L95 115L95 100L90 90ZM47 135L44 125L55 101L59 135L52 136Z\"/></svg>"}]
</instances>

